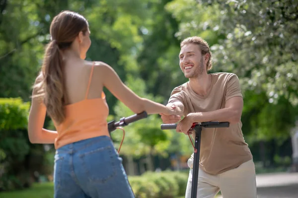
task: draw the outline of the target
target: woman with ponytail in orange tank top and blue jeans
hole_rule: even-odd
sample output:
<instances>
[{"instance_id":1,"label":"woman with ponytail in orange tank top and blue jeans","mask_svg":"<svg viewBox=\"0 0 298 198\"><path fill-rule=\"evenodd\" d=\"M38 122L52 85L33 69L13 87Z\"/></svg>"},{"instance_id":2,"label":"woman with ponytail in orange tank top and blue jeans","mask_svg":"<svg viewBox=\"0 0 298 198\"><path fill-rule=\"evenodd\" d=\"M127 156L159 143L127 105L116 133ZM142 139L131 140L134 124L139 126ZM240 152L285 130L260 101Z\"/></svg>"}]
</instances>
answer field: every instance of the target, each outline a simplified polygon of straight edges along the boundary
<instances>
[{"instance_id":1,"label":"woman with ponytail in orange tank top and blue jeans","mask_svg":"<svg viewBox=\"0 0 298 198\"><path fill-rule=\"evenodd\" d=\"M28 135L33 144L55 144L55 198L133 198L109 137L103 87L135 113L174 114L175 107L138 97L109 65L84 60L91 41L83 16L59 13L50 34L33 87ZM46 111L57 131L43 129Z\"/></svg>"}]
</instances>

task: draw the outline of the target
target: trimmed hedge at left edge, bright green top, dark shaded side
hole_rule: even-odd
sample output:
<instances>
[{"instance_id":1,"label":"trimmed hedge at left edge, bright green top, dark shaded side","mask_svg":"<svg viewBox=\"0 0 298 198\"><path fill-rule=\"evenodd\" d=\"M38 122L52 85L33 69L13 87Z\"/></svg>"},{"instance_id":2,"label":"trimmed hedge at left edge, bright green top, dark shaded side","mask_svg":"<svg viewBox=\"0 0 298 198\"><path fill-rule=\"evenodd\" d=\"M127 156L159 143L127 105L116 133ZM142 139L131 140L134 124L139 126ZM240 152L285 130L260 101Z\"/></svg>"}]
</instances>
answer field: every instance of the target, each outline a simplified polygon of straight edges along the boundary
<instances>
[{"instance_id":1,"label":"trimmed hedge at left edge, bright green top, dark shaded side","mask_svg":"<svg viewBox=\"0 0 298 198\"><path fill-rule=\"evenodd\" d=\"M47 168L42 145L32 145L28 139L29 107L19 98L0 99L0 190L29 187L33 173Z\"/></svg>"}]
</instances>

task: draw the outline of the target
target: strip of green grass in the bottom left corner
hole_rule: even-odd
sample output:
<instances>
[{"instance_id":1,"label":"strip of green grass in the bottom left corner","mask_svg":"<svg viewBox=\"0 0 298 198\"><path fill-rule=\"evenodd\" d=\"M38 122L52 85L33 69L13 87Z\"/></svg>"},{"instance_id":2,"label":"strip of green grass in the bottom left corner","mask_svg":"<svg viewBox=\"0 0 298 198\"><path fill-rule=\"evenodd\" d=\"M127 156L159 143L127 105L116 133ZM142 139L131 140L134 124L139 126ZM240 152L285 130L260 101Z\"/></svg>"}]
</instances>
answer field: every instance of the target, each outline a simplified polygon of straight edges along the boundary
<instances>
[{"instance_id":1,"label":"strip of green grass in the bottom left corner","mask_svg":"<svg viewBox=\"0 0 298 198\"><path fill-rule=\"evenodd\" d=\"M52 182L36 183L29 189L0 193L0 198L53 198Z\"/></svg>"}]
</instances>

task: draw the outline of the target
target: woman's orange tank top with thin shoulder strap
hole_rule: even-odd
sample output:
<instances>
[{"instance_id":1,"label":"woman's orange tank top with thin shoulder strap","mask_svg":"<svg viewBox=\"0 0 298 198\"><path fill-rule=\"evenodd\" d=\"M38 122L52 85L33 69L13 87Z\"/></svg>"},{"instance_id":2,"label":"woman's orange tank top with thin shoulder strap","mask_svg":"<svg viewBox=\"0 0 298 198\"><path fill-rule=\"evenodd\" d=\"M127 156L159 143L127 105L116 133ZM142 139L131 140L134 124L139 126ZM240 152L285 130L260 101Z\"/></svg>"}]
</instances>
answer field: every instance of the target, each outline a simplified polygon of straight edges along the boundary
<instances>
[{"instance_id":1,"label":"woman's orange tank top with thin shoulder strap","mask_svg":"<svg viewBox=\"0 0 298 198\"><path fill-rule=\"evenodd\" d=\"M107 117L109 107L102 92L101 98L87 99L91 83L94 64L91 68L89 83L85 99L73 104L65 105L65 120L57 125L54 122L58 137L55 140L55 148L94 138L98 136L109 136Z\"/></svg>"}]
</instances>

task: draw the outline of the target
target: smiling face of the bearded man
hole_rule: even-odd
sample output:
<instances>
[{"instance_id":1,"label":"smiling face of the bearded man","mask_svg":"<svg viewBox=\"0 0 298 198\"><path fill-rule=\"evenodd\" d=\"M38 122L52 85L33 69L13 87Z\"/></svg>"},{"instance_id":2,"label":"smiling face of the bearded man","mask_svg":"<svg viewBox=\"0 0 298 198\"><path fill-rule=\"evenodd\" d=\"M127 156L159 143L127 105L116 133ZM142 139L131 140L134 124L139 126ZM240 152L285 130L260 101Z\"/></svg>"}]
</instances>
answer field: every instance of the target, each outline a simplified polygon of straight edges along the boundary
<instances>
[{"instance_id":1,"label":"smiling face of the bearded man","mask_svg":"<svg viewBox=\"0 0 298 198\"><path fill-rule=\"evenodd\" d=\"M198 45L184 45L180 50L179 59L185 78L197 78L204 72L203 56Z\"/></svg>"}]
</instances>

